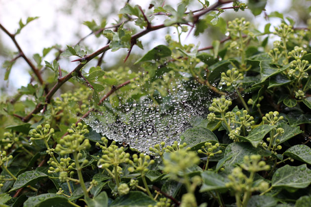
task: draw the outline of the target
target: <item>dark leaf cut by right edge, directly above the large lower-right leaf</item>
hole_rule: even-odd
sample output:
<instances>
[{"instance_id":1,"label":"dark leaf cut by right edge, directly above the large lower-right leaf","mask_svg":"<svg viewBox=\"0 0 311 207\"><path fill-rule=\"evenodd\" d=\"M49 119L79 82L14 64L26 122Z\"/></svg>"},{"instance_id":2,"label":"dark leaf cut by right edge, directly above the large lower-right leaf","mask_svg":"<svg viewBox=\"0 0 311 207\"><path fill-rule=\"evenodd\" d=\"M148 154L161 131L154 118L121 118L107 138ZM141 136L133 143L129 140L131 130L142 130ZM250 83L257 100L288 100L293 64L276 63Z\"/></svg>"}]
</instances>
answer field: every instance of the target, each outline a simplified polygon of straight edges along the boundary
<instances>
[{"instance_id":1,"label":"dark leaf cut by right edge, directly above the large lower-right leaf","mask_svg":"<svg viewBox=\"0 0 311 207\"><path fill-rule=\"evenodd\" d=\"M305 144L297 144L288 148L283 155L311 165L311 148Z\"/></svg>"}]
</instances>

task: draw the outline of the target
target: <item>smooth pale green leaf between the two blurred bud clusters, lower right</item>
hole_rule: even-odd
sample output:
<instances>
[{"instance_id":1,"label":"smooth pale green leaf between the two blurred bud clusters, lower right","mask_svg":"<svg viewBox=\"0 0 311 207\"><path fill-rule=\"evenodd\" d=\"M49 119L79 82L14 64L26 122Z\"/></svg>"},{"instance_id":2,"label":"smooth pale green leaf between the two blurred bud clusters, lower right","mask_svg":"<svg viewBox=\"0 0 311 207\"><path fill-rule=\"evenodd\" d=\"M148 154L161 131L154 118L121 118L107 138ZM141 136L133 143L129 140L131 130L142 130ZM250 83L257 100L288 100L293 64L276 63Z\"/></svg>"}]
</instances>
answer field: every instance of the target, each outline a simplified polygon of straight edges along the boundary
<instances>
[{"instance_id":1,"label":"smooth pale green leaf between the two blurred bud clusters, lower right","mask_svg":"<svg viewBox=\"0 0 311 207\"><path fill-rule=\"evenodd\" d=\"M201 173L202 177L202 187L200 192L210 191L210 190L225 190L226 183L230 182L227 177L224 177L220 174L214 173L213 171L204 171Z\"/></svg>"}]
</instances>

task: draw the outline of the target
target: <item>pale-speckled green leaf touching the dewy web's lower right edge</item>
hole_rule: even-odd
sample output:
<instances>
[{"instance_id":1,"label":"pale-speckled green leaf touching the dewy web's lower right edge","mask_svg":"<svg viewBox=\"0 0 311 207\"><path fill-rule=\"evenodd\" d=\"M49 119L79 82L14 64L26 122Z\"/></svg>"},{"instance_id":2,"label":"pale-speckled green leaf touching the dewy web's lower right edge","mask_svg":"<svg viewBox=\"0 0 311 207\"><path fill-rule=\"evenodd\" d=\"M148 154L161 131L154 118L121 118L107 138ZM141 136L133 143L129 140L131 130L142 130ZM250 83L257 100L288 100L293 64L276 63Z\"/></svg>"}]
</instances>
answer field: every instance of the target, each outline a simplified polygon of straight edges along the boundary
<instances>
[{"instance_id":1,"label":"pale-speckled green leaf touching the dewy web's lower right edge","mask_svg":"<svg viewBox=\"0 0 311 207\"><path fill-rule=\"evenodd\" d=\"M200 149L201 146L207 142L218 142L216 135L212 131L204 127L194 127L189 130L186 130L181 135L181 142L180 143L187 143L187 146L191 147L192 150Z\"/></svg>"}]
</instances>

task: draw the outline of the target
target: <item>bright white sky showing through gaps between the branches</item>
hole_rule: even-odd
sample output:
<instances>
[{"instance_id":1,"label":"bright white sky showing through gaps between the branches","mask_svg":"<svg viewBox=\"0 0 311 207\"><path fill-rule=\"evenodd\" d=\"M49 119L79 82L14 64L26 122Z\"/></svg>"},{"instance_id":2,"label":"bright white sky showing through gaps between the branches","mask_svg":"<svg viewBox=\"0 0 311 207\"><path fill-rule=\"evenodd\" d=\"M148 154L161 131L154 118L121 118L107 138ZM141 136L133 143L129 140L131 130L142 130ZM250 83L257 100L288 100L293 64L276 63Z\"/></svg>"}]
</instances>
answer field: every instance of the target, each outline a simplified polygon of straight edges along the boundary
<instances>
[{"instance_id":1,"label":"bright white sky showing through gaps between the branches","mask_svg":"<svg viewBox=\"0 0 311 207\"><path fill-rule=\"evenodd\" d=\"M149 2L151 0L130 0L132 5L140 4L143 9L147 9ZM216 0L210 0L210 4L215 2ZM103 0L100 4L100 8L102 13L109 13L112 9L112 2L115 3L117 10L124 6L125 0ZM116 3L117 2L117 3ZM167 4L176 4L179 0L166 0ZM267 13L274 11L275 8L279 12L282 12L287 6L290 4L290 0L281 0L282 4L279 3L280 0L273 1L273 3L268 4ZM16 37L18 43L21 48L24 50L24 53L31 58L33 54L39 53L42 54L42 49L44 47L49 47L55 43L58 43L63 46L66 44L74 45L78 42L79 37L77 34L72 31L79 31L80 35L84 36L89 34L89 29L82 25L83 21L91 21L94 19L99 22L100 17L94 16L91 12L91 9L87 7L88 0L78 0L78 5L73 8L73 13L71 15L66 15L64 12L60 12L59 8L64 6L63 0L0 0L0 23L11 33L14 33L18 28L19 19L22 18L23 22L26 21L29 16L39 16L40 18L31 22L27 25L21 32L20 35ZM200 8L200 4L195 4ZM228 4L229 5L229 4ZM175 6L176 7L176 6ZM273 9L272 9L273 8ZM194 7L190 7L190 9L195 9ZM249 12L249 11L247 11ZM109 22L112 23L113 19L116 16L110 16ZM116 18L117 19L117 18ZM157 19L156 23L161 23L161 19ZM278 24L278 20L272 19L273 24ZM255 19L255 23L259 25L259 29L262 31L263 27L267 23L263 14ZM108 24L109 25L109 24ZM151 48L165 43L164 35L167 30L159 30L153 32L151 35L145 35L140 38L143 42L150 42ZM174 37L174 34L171 34ZM175 38L177 35L175 35ZM0 38L6 48L10 48L12 51L16 51L16 48L10 38L5 35L2 31L0 31ZM194 39L192 35L186 39L186 35L182 36L185 43L197 42L198 39ZM101 37L100 39L96 39L95 37L89 37L85 40L87 45L90 45L90 50L95 51L100 48L107 40ZM204 39L200 39L201 47L208 46L204 45ZM206 42L205 42L206 43ZM142 53L140 49L134 50ZM124 52L124 50L119 50L117 52L107 52L105 56L105 61L109 63L110 61L114 61L114 57L117 57L120 53ZM147 52L144 51L143 53ZM53 57L50 57L51 61ZM0 59L0 65L2 65L4 60ZM60 62L61 66L64 64L68 70L72 70L77 63L71 63L68 65L67 62ZM15 91L16 88L20 86L26 86L29 83L30 75L25 71L25 68L28 68L25 62L20 59L13 66L9 78L9 86L12 87L11 91ZM3 70L1 68L0 75L3 75ZM3 80L3 77L1 77Z\"/></svg>"}]
</instances>

